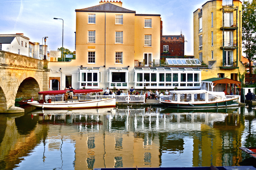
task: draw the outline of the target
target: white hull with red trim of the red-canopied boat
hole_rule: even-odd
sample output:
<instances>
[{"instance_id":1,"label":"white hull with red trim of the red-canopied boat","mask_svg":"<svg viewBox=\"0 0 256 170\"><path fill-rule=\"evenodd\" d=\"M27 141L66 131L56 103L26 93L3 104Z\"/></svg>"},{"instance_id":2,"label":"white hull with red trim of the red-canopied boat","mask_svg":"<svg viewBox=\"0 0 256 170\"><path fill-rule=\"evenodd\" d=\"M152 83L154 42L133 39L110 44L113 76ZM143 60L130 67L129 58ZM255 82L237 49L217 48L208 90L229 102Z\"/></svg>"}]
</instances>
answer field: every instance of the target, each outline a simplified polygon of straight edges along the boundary
<instances>
[{"instance_id":1,"label":"white hull with red trim of the red-canopied boat","mask_svg":"<svg viewBox=\"0 0 256 170\"><path fill-rule=\"evenodd\" d=\"M99 99L92 101L63 101L58 103L43 103L28 102L28 104L42 109L90 109L90 108L104 108L104 107L115 107L116 99Z\"/></svg>"}]
</instances>

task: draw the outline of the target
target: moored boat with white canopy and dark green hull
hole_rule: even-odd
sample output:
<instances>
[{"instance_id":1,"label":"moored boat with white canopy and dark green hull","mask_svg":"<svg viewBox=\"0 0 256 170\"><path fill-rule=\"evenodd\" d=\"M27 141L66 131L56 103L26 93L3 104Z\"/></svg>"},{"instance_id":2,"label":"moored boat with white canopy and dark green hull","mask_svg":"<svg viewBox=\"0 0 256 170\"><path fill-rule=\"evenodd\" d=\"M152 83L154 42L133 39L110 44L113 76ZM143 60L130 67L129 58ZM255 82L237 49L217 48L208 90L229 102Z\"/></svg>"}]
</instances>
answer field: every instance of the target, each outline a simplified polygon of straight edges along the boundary
<instances>
[{"instance_id":1,"label":"moored boat with white canopy and dark green hull","mask_svg":"<svg viewBox=\"0 0 256 170\"><path fill-rule=\"evenodd\" d=\"M179 109L225 108L238 106L239 97L227 98L224 92L207 90L175 90L169 96L160 96L160 102Z\"/></svg>"}]
</instances>

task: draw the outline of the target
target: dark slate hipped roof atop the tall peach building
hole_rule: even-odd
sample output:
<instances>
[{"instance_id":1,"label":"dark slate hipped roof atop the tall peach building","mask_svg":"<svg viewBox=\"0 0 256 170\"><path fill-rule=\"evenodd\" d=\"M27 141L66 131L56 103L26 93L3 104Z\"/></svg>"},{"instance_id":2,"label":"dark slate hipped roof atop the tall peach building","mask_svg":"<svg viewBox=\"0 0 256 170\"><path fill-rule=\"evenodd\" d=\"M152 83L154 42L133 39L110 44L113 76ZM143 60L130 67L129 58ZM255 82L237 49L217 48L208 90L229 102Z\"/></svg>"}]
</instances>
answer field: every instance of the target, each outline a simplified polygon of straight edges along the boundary
<instances>
[{"instance_id":1,"label":"dark slate hipped roof atop the tall peach building","mask_svg":"<svg viewBox=\"0 0 256 170\"><path fill-rule=\"evenodd\" d=\"M76 9L76 12L115 12L115 13L136 13L136 11L128 10L117 5L111 4L109 2L100 4L97 6Z\"/></svg>"}]
</instances>

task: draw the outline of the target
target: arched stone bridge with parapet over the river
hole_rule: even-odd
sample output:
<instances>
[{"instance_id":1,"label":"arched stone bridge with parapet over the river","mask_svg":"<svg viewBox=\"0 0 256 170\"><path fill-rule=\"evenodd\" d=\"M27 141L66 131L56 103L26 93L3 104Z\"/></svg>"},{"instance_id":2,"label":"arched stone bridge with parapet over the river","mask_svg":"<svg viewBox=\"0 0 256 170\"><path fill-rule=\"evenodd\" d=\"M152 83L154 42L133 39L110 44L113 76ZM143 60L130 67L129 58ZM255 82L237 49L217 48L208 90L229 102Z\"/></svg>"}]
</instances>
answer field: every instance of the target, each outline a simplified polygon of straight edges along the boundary
<instances>
[{"instance_id":1,"label":"arched stone bridge with parapet over the river","mask_svg":"<svg viewBox=\"0 0 256 170\"><path fill-rule=\"evenodd\" d=\"M0 50L0 113L20 113L15 99L38 99L49 89L48 61Z\"/></svg>"}]
</instances>

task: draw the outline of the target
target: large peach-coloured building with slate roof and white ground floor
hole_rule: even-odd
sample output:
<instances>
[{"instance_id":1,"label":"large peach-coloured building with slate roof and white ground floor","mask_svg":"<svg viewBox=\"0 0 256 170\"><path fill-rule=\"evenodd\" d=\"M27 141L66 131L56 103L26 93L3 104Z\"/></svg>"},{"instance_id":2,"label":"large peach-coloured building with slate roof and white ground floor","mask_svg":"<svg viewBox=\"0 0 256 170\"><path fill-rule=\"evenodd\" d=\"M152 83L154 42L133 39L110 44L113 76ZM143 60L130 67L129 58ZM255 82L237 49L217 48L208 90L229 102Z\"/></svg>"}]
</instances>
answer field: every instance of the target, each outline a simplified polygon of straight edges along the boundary
<instances>
[{"instance_id":1,"label":"large peach-coloured building with slate roof and white ground floor","mask_svg":"<svg viewBox=\"0 0 256 170\"><path fill-rule=\"evenodd\" d=\"M49 63L50 79L59 80L60 89L130 89L135 60L145 59L145 66L160 60L160 15L136 14L121 1L101 1L75 12L76 59Z\"/></svg>"}]
</instances>

